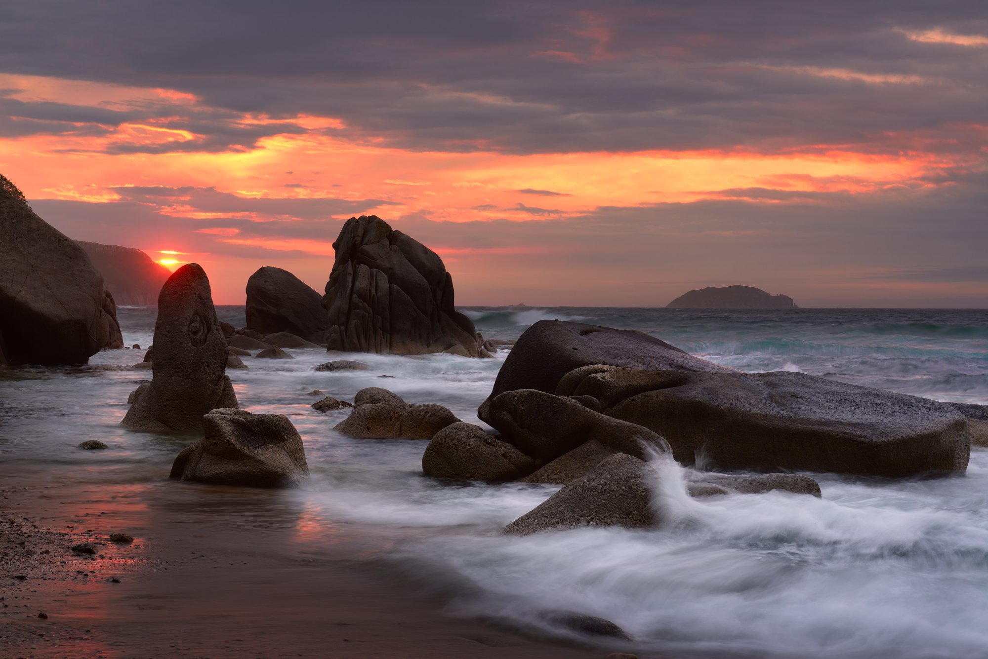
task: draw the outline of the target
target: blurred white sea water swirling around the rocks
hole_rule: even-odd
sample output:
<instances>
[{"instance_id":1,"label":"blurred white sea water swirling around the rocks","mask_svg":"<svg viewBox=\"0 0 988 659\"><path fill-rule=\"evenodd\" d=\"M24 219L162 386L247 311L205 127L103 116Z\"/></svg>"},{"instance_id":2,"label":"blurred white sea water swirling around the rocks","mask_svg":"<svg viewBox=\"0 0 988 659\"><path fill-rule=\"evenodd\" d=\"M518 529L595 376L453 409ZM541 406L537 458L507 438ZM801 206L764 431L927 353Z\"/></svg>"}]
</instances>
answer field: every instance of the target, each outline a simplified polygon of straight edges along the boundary
<instances>
[{"instance_id":1,"label":"blurred white sea water swirling around the rocks","mask_svg":"<svg viewBox=\"0 0 988 659\"><path fill-rule=\"evenodd\" d=\"M244 324L242 307L217 308ZM747 372L811 375L939 401L988 403L988 312L468 308L488 338L515 338L538 320L640 329ZM154 309L119 312L124 340L149 344ZM662 458L655 531L577 529L498 535L557 487L446 484L421 475L425 442L342 437L346 411L317 412L311 390L343 400L384 387L409 403L440 403L479 423L476 407L504 361L451 355L333 355L368 371L316 372L322 350L292 360L245 357L229 370L242 407L288 414L312 473L279 493L296 520L289 543L317 550L346 524L365 534L368 569L444 598L457 615L574 637L545 612L606 618L639 652L698 657L988 656L988 450L966 477L883 481L812 475L823 497L783 492L694 500L686 471ZM0 470L71 485L100 483L141 505L196 505L206 486L167 481L195 437L128 432L126 397L149 371L143 351L113 350L88 366L0 371ZM388 377L383 377L388 376ZM79 451L100 439L107 451ZM0 475L2 476L2 475ZM115 489L116 488L116 489ZM206 506L207 508L207 506ZM270 510L268 511L270 512ZM250 507L217 522L264 528ZM266 513L267 514L267 513ZM583 638L593 642L591 638ZM613 645L613 644L612 644Z\"/></svg>"}]
</instances>

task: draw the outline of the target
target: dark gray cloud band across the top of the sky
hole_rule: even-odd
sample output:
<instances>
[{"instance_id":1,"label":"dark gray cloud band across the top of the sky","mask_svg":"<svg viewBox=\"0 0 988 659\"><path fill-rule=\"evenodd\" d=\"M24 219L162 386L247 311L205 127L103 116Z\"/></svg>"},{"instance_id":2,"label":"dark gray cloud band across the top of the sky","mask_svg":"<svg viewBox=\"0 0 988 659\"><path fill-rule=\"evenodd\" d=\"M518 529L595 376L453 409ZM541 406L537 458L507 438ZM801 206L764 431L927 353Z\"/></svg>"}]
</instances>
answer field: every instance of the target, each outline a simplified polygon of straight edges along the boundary
<instances>
[{"instance_id":1,"label":"dark gray cloud band across the top of the sky","mask_svg":"<svg viewBox=\"0 0 988 659\"><path fill-rule=\"evenodd\" d=\"M988 36L988 5L39 0L5 7L0 70L178 89L287 131L335 116L409 149L979 155L988 48L903 34L932 29ZM150 148L248 148L269 129L189 125L208 137Z\"/></svg>"}]
</instances>

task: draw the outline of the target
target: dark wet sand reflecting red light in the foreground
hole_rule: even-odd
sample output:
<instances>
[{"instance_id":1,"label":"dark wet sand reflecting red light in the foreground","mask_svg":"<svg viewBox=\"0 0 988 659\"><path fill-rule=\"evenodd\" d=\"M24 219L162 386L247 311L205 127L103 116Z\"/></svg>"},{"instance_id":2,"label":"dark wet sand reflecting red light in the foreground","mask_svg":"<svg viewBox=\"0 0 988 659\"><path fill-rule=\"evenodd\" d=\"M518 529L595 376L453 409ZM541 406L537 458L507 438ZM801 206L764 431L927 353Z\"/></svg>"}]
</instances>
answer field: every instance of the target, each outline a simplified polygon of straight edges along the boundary
<instances>
[{"instance_id":1,"label":"dark wet sand reflecting red light in the foreground","mask_svg":"<svg viewBox=\"0 0 988 659\"><path fill-rule=\"evenodd\" d=\"M307 528L304 511L265 509L277 493L31 480L0 484L4 657L578 659L619 649L457 619L367 567L386 539ZM145 490L169 486L175 496L151 507ZM113 533L135 540L115 544ZM83 542L98 554L72 552Z\"/></svg>"}]
</instances>

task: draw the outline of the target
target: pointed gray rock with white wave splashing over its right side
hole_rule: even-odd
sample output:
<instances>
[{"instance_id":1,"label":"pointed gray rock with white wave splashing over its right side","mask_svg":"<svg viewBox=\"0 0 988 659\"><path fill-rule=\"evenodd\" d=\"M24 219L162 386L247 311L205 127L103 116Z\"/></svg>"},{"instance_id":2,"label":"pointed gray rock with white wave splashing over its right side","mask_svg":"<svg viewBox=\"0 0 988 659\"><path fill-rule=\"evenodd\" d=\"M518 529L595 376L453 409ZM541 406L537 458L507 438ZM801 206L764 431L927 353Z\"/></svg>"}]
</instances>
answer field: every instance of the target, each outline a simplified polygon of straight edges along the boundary
<instances>
[{"instance_id":1,"label":"pointed gray rock with white wave splashing over its right side","mask_svg":"<svg viewBox=\"0 0 988 659\"><path fill-rule=\"evenodd\" d=\"M650 506L655 471L637 458L613 455L504 528L511 536L581 526L647 529L658 524Z\"/></svg>"}]
</instances>

